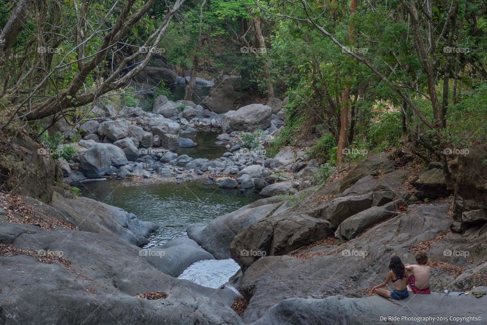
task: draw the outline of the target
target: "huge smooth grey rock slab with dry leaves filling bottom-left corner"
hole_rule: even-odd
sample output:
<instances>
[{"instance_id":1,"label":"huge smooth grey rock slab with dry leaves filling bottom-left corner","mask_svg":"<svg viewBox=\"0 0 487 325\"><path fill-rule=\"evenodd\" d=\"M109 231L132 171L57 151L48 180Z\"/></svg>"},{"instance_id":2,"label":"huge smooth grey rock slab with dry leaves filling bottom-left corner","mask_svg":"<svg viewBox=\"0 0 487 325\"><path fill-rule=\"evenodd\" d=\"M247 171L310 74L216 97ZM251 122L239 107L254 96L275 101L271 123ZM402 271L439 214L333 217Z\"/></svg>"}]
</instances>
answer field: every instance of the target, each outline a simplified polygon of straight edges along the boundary
<instances>
[{"instance_id":1,"label":"huge smooth grey rock slab with dry leaves filling bottom-left corner","mask_svg":"<svg viewBox=\"0 0 487 325\"><path fill-rule=\"evenodd\" d=\"M2 324L242 324L230 309L235 297L230 289L163 274L140 248L119 238L3 223L0 243L17 252L0 256ZM152 292L166 295L136 297Z\"/></svg>"}]
</instances>

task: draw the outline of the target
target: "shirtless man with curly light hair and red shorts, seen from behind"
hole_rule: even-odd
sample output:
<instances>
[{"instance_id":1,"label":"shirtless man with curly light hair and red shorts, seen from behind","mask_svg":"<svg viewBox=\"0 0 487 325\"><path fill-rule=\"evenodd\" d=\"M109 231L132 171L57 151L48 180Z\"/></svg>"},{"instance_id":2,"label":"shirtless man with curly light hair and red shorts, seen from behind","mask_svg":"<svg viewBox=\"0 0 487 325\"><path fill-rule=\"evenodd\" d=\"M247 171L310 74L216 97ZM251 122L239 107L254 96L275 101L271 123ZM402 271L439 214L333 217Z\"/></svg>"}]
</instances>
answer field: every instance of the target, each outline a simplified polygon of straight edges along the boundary
<instances>
[{"instance_id":1,"label":"shirtless man with curly light hair and red shorts, seen from behind","mask_svg":"<svg viewBox=\"0 0 487 325\"><path fill-rule=\"evenodd\" d=\"M406 264L404 266L409 283L407 288L415 294L429 294L431 293L431 268L426 265L428 263L428 255L426 255L424 250L420 250L414 257L418 264Z\"/></svg>"}]
</instances>

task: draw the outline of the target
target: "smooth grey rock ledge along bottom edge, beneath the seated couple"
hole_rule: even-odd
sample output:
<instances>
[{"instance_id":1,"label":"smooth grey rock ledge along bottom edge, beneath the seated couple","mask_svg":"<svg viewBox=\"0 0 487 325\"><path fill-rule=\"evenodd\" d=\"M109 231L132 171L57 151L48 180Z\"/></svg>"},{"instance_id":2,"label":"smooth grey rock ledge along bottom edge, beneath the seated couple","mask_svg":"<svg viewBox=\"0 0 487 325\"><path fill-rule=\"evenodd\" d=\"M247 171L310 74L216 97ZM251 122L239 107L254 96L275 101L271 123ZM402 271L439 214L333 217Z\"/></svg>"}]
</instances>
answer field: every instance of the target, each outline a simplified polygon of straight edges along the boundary
<instances>
[{"instance_id":1,"label":"smooth grey rock ledge along bottom edge, beneath the seated couple","mask_svg":"<svg viewBox=\"0 0 487 325\"><path fill-rule=\"evenodd\" d=\"M487 287L477 290L487 291ZM288 298L269 310L252 325L363 325L387 323L390 325L414 325L433 319L443 324L478 323L487 317L484 306L487 297L473 298L451 293L413 295L401 301L384 299L379 296L367 298L347 298L341 295L325 299ZM434 307L433 307L434 306Z\"/></svg>"}]
</instances>

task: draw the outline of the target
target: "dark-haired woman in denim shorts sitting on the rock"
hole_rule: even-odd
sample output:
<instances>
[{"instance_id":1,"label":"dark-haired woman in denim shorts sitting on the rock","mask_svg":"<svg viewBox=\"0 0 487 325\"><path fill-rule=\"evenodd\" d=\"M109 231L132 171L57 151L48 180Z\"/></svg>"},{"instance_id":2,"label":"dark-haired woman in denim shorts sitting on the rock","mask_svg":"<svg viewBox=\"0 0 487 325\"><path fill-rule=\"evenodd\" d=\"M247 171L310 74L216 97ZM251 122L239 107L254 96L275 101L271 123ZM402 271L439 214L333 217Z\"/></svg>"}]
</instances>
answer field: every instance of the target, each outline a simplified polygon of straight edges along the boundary
<instances>
[{"instance_id":1,"label":"dark-haired woman in denim shorts sitting on the rock","mask_svg":"<svg viewBox=\"0 0 487 325\"><path fill-rule=\"evenodd\" d=\"M386 298L392 298L395 300L405 299L409 296L407 292L407 278L404 273L404 264L402 264L401 258L398 256L392 256L389 263L389 273L387 274L384 282L374 286L372 292ZM389 291L383 289L392 280L394 283L394 290Z\"/></svg>"}]
</instances>

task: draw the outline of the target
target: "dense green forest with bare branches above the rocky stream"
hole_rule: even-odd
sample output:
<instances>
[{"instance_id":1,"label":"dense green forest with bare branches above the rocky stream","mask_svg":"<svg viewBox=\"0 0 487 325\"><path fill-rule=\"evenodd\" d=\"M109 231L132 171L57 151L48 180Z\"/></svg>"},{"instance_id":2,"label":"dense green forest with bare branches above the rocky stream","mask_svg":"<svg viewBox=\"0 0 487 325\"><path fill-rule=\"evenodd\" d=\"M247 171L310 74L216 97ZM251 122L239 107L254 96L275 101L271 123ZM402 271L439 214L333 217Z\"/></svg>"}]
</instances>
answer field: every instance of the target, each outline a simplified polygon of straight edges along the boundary
<instances>
[{"instance_id":1,"label":"dense green forest with bare branches above the rocky stream","mask_svg":"<svg viewBox=\"0 0 487 325\"><path fill-rule=\"evenodd\" d=\"M239 89L252 98L289 96L271 154L319 139L311 152L340 165L406 140L423 159L445 163L449 149L486 137L482 1L1 6L4 134L41 136L56 120L86 121L96 100L133 101L131 78L163 55L193 86L196 76L241 75Z\"/></svg>"}]
</instances>

